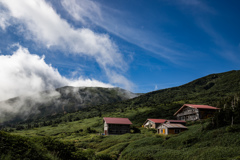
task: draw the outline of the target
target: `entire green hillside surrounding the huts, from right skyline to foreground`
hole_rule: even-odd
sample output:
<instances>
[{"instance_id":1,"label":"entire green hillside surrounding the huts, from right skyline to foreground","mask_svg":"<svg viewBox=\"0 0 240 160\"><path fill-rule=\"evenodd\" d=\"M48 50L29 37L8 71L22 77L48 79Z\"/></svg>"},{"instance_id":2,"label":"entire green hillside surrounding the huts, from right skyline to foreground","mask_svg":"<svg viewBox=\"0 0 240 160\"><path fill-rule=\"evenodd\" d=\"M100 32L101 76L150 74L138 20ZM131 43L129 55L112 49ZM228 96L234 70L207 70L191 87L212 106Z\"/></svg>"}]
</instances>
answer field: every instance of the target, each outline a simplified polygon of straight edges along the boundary
<instances>
[{"instance_id":1,"label":"entire green hillside surrounding the huts, from right skyline to foreground","mask_svg":"<svg viewBox=\"0 0 240 160\"><path fill-rule=\"evenodd\" d=\"M43 116L2 128L1 159L212 160L240 159L240 71L212 74L74 113ZM184 103L221 108L213 118L189 122L178 135L160 136L141 125L147 118L172 119ZM128 117L130 134L102 136L103 117ZM22 146L22 147L20 147ZM31 146L31 147L29 147Z\"/></svg>"}]
</instances>

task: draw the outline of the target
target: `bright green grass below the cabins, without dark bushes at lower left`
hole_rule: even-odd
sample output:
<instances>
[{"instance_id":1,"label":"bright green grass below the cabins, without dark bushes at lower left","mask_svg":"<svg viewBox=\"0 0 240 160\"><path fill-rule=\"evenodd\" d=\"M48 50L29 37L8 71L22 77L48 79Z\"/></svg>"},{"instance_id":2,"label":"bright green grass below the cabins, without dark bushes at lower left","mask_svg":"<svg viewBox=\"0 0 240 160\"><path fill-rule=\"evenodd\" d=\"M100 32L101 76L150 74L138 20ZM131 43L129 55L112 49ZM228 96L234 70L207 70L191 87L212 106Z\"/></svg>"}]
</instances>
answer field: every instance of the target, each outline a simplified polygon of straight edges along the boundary
<instances>
[{"instance_id":1,"label":"bright green grass below the cabins, without dark bushes at lower left","mask_svg":"<svg viewBox=\"0 0 240 160\"><path fill-rule=\"evenodd\" d=\"M142 111L146 111L145 108L134 110L132 113L126 112L131 116ZM239 159L239 131L229 130L228 127L207 130L207 126L208 121L189 123L187 131L170 136L157 135L145 128L140 128L141 133L102 136L98 133L86 132L90 127L102 133L102 118L95 117L61 123L56 127L14 131L11 134L33 138L52 137L61 142L73 144L77 149L85 150L87 155L95 155L95 158L99 156L103 159ZM235 126L235 128L239 127L240 125ZM9 159L10 155L1 156L2 159Z\"/></svg>"}]
</instances>

